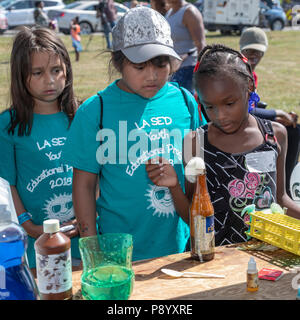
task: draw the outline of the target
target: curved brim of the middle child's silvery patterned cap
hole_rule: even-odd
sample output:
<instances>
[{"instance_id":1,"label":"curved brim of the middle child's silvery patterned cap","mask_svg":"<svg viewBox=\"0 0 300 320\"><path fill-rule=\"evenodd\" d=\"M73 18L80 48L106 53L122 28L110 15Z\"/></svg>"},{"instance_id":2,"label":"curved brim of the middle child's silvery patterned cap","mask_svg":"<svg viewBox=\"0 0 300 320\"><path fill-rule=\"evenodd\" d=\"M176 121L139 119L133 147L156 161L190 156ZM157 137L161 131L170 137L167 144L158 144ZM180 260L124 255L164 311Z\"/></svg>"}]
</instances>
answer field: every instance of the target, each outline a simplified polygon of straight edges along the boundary
<instances>
[{"instance_id":1,"label":"curved brim of the middle child's silvery patterned cap","mask_svg":"<svg viewBox=\"0 0 300 320\"><path fill-rule=\"evenodd\" d=\"M142 44L121 51L133 63L142 63L158 56L170 56L182 60L173 48L157 43Z\"/></svg>"}]
</instances>

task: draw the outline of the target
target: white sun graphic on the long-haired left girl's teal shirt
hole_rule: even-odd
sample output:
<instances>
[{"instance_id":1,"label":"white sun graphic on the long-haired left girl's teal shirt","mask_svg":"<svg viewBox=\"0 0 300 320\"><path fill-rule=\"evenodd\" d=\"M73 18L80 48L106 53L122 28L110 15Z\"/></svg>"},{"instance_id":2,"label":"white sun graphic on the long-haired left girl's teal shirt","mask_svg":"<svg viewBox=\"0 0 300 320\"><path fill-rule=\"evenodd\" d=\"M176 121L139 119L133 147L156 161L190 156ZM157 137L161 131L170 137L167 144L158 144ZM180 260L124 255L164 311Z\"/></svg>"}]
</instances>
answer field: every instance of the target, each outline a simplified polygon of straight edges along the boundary
<instances>
[{"instance_id":1,"label":"white sun graphic on the long-haired left girl's teal shirt","mask_svg":"<svg viewBox=\"0 0 300 320\"><path fill-rule=\"evenodd\" d=\"M64 193L46 201L44 209L46 219L58 219L67 222L74 218L72 194Z\"/></svg>"}]
</instances>

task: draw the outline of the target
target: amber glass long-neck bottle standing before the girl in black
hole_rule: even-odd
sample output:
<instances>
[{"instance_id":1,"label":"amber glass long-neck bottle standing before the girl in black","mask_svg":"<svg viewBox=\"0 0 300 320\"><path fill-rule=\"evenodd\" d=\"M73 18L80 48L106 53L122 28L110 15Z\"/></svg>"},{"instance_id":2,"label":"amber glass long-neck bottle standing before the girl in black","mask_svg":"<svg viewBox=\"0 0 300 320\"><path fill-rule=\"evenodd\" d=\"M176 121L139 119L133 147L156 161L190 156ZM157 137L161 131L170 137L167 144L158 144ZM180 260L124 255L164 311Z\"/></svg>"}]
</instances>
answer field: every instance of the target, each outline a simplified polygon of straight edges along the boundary
<instances>
[{"instance_id":1,"label":"amber glass long-neck bottle standing before the girl in black","mask_svg":"<svg viewBox=\"0 0 300 320\"><path fill-rule=\"evenodd\" d=\"M206 185L206 172L197 176L190 207L191 257L200 262L214 258L214 208Z\"/></svg>"}]
</instances>

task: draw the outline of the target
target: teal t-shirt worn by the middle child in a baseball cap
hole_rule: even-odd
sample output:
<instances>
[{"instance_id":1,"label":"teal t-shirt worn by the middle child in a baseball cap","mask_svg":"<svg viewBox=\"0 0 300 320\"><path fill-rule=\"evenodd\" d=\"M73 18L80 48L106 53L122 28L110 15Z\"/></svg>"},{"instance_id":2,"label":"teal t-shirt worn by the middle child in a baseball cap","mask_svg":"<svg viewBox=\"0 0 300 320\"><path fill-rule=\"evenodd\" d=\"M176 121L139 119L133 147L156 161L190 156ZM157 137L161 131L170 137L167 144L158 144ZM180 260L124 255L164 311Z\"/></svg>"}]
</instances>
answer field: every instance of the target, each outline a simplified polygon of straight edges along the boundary
<instances>
[{"instance_id":1,"label":"teal t-shirt worn by the middle child in a baseball cap","mask_svg":"<svg viewBox=\"0 0 300 320\"><path fill-rule=\"evenodd\" d=\"M76 113L63 148L64 161L83 171L101 171L99 231L132 234L133 260L183 252L189 227L176 213L169 189L148 178L145 161L167 158L184 188L182 141L199 126L196 101L185 90L187 106L180 89L171 83L149 99L125 92L116 83L100 92L101 147L100 102L95 95Z\"/></svg>"}]
</instances>

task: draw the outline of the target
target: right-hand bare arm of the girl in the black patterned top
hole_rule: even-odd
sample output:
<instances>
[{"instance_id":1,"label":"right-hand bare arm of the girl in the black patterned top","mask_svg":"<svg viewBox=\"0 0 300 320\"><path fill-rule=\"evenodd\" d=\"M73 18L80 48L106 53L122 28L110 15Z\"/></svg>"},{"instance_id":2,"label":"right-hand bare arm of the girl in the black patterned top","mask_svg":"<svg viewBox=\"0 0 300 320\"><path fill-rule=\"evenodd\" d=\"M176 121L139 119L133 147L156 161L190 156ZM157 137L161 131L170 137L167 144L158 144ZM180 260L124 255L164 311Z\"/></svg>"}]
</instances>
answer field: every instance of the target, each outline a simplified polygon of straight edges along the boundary
<instances>
[{"instance_id":1,"label":"right-hand bare arm of the girl in the black patterned top","mask_svg":"<svg viewBox=\"0 0 300 320\"><path fill-rule=\"evenodd\" d=\"M273 130L278 141L277 158L277 202L282 207L288 208L287 215L300 219L300 207L287 195L285 190L285 158L287 151L286 128L277 122L272 122Z\"/></svg>"}]
</instances>

